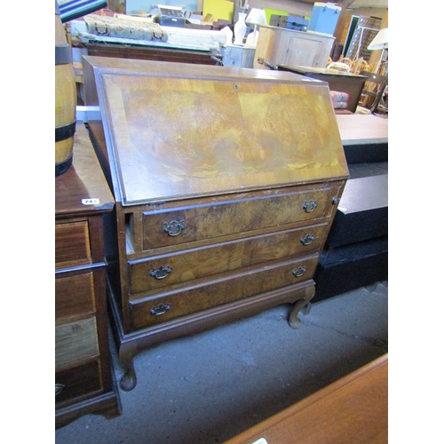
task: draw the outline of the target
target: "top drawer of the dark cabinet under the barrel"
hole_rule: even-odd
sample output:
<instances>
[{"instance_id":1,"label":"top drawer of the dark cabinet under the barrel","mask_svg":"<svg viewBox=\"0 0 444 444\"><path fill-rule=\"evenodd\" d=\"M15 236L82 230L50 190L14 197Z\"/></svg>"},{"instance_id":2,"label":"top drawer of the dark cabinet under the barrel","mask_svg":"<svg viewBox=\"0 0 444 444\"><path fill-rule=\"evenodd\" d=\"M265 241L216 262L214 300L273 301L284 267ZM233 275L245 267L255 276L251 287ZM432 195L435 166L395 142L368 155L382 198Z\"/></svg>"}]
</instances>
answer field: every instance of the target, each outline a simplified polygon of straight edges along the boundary
<instances>
[{"instance_id":1,"label":"top drawer of the dark cabinet under the barrel","mask_svg":"<svg viewBox=\"0 0 444 444\"><path fill-rule=\"evenodd\" d=\"M56 268L91 264L88 223L86 221L56 224Z\"/></svg>"}]
</instances>

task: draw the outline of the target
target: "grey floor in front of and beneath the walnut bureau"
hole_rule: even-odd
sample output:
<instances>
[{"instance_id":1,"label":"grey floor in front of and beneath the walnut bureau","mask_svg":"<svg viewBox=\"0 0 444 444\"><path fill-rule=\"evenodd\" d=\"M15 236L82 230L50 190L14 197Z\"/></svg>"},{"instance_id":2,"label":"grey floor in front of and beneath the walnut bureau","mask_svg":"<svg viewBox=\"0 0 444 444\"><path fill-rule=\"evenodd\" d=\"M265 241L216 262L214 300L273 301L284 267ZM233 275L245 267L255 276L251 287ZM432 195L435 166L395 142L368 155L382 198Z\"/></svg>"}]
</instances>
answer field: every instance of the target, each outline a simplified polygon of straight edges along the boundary
<instances>
[{"instance_id":1,"label":"grey floor in front of and beneath the walnut bureau","mask_svg":"<svg viewBox=\"0 0 444 444\"><path fill-rule=\"evenodd\" d=\"M139 353L138 385L120 391L123 414L82 416L56 430L55 442L224 442L388 352L387 281L313 303L300 329L289 328L290 309Z\"/></svg>"}]
</instances>

